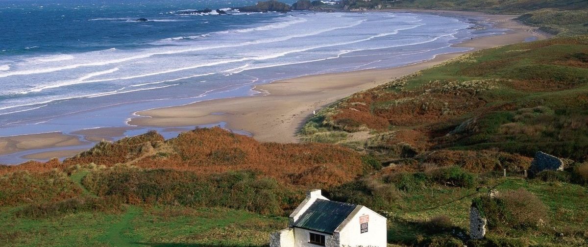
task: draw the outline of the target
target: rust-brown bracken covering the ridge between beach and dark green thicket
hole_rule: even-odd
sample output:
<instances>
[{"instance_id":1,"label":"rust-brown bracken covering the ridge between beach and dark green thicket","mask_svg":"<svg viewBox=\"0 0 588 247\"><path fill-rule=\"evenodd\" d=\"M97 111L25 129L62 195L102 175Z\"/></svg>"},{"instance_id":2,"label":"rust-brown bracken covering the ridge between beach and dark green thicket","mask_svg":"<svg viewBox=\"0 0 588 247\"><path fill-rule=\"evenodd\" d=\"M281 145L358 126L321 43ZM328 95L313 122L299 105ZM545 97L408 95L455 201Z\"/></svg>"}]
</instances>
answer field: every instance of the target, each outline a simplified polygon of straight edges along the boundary
<instances>
[{"instance_id":1,"label":"rust-brown bracken covering the ridge between beach and dark green thicket","mask_svg":"<svg viewBox=\"0 0 588 247\"><path fill-rule=\"evenodd\" d=\"M221 128L196 129L164 141L156 132L101 142L89 151L59 162L27 162L0 169L46 172L54 168L95 163L106 167L128 163L139 168L191 171L199 175L253 171L285 184L329 187L363 174L360 153L322 143L260 143Z\"/></svg>"}]
</instances>

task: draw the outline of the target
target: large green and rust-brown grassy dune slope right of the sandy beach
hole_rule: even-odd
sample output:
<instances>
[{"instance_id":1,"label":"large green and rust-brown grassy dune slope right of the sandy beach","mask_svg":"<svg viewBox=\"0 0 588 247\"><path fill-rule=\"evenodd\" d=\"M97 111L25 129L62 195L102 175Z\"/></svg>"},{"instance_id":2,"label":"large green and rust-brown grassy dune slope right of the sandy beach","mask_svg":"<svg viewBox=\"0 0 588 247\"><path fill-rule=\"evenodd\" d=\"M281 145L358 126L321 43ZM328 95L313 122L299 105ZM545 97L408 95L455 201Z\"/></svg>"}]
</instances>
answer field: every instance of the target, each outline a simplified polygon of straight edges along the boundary
<instances>
[{"instance_id":1,"label":"large green and rust-brown grassy dune slope right of the sandy beach","mask_svg":"<svg viewBox=\"0 0 588 247\"><path fill-rule=\"evenodd\" d=\"M320 111L301 135L420 162L435 160L433 151L469 160L481 157L468 151L493 152L487 161L498 164L537 151L585 161L587 99L588 36L553 38L474 52L359 92Z\"/></svg>"}]
</instances>

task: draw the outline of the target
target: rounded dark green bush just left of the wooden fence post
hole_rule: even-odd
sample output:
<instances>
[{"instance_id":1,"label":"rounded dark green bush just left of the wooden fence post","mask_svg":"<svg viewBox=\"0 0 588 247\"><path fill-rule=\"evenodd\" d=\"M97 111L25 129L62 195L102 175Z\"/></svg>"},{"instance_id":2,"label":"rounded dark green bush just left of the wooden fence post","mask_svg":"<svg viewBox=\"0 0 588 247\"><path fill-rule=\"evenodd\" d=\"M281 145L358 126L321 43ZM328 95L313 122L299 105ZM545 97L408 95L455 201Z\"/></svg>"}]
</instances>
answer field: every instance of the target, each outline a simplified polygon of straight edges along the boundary
<instances>
[{"instance_id":1,"label":"rounded dark green bush just left of the wooden fence post","mask_svg":"<svg viewBox=\"0 0 588 247\"><path fill-rule=\"evenodd\" d=\"M430 176L432 181L447 186L472 188L477 183L476 175L457 166L435 169Z\"/></svg>"}]
</instances>

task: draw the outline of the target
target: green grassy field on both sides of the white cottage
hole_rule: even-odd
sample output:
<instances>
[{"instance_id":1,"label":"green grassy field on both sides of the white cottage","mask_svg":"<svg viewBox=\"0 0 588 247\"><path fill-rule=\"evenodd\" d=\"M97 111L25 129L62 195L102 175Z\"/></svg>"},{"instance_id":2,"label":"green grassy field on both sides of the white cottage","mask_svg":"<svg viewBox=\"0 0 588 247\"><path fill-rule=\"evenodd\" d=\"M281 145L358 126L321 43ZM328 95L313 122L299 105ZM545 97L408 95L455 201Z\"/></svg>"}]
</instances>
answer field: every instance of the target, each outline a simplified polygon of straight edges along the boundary
<instances>
[{"instance_id":1,"label":"green grassy field on both sides of the white cottage","mask_svg":"<svg viewBox=\"0 0 588 247\"><path fill-rule=\"evenodd\" d=\"M452 178L439 176L439 169L429 168L424 172L413 169L388 166L327 189L325 193L339 201L361 203L385 215L389 219L390 245L462 246L474 244L467 240L472 199L486 195L490 189L507 192L524 188L546 205L546 225L490 231L483 246L588 244L586 186L517 176L501 178L492 172L476 174L454 168L447 171L465 174L469 179L447 185ZM82 176L94 172L98 171L83 168L66 178L73 186L79 186L78 196L108 201L80 182ZM285 228L288 222L287 213L260 214L226 207L183 206L181 202L118 201L107 203L107 207L88 209L63 206L60 204L63 201L57 198L29 199L36 203L0 208L0 246L266 246L269 233ZM57 212L44 215L27 210L37 208L41 201L44 205L54 205L42 207L45 212ZM242 203L246 202L235 201L233 205Z\"/></svg>"}]
</instances>

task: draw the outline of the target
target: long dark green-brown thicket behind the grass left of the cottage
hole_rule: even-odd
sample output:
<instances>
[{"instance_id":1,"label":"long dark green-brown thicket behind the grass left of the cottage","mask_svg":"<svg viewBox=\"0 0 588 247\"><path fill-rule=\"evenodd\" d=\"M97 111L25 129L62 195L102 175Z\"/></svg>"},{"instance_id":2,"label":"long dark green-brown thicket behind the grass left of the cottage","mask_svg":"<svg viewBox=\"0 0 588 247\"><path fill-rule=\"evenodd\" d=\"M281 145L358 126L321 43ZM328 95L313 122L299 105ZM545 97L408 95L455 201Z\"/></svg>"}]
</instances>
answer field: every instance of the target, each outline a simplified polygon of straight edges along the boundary
<instances>
[{"instance_id":1,"label":"long dark green-brown thicket behind the grass left of the cottage","mask_svg":"<svg viewBox=\"0 0 588 247\"><path fill-rule=\"evenodd\" d=\"M120 196L125 203L184 206L222 206L263 214L280 214L298 201L275 179L254 172L198 175L194 172L116 166L93 171L82 180L99 196Z\"/></svg>"}]
</instances>

